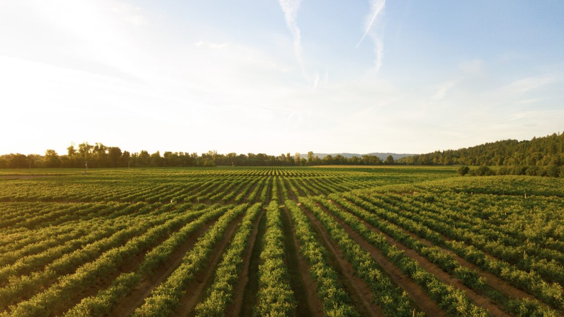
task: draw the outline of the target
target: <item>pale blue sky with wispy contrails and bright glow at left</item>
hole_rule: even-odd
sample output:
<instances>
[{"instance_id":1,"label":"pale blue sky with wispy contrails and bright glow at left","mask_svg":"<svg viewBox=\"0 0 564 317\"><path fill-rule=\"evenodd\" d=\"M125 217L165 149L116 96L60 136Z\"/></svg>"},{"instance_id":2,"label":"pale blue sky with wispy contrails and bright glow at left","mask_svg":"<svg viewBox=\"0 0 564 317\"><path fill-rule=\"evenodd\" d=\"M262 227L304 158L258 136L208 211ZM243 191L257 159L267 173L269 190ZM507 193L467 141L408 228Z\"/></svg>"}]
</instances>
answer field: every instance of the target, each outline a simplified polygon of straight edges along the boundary
<instances>
[{"instance_id":1,"label":"pale blue sky with wispy contrails and bright glow at left","mask_svg":"<svg viewBox=\"0 0 564 317\"><path fill-rule=\"evenodd\" d=\"M564 131L564 1L0 0L0 153L425 153Z\"/></svg>"}]
</instances>

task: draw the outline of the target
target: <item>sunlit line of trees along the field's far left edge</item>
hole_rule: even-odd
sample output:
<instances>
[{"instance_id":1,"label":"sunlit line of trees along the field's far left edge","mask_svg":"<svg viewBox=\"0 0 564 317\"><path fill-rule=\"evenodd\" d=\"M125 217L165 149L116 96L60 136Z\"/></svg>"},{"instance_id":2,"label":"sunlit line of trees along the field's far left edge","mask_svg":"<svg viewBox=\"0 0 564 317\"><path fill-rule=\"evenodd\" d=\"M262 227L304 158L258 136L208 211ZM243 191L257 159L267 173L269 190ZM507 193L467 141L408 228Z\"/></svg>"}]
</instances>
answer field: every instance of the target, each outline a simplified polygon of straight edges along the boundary
<instances>
[{"instance_id":1,"label":"sunlit line of trees along the field's far left edge","mask_svg":"<svg viewBox=\"0 0 564 317\"><path fill-rule=\"evenodd\" d=\"M0 168L127 168L127 167L183 167L183 166L311 166L311 165L379 165L394 164L394 158L385 160L373 155L353 156L327 155L324 158L308 152L306 157L299 153L293 156L282 153L279 156L265 153L220 154L217 151L207 153L164 152L149 154L147 151L130 153L119 147L108 147L102 143L94 145L84 142L70 144L66 155L59 155L54 149L47 149L45 155L10 153L0 155Z\"/></svg>"}]
</instances>

